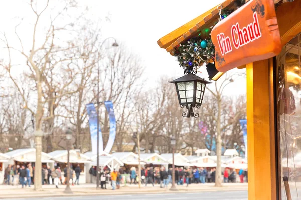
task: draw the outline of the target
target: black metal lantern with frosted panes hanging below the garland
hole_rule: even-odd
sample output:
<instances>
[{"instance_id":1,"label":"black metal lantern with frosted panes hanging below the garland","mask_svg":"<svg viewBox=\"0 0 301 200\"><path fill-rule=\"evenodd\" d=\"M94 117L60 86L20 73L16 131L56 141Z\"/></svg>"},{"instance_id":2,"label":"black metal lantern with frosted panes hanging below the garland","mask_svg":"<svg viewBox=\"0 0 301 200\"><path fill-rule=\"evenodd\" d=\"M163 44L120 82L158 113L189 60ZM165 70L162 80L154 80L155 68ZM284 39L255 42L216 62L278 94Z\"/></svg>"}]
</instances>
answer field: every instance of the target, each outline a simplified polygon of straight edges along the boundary
<instances>
[{"instance_id":1,"label":"black metal lantern with frosted panes hanging below the garland","mask_svg":"<svg viewBox=\"0 0 301 200\"><path fill-rule=\"evenodd\" d=\"M188 109L188 113L183 112L182 116L188 118L193 116L197 118L199 117L199 114L195 114L193 108L197 107L199 109L201 107L206 84L211 82L196 76L196 70L185 70L184 74L186 75L171 81L171 83L176 85L180 106Z\"/></svg>"}]
</instances>

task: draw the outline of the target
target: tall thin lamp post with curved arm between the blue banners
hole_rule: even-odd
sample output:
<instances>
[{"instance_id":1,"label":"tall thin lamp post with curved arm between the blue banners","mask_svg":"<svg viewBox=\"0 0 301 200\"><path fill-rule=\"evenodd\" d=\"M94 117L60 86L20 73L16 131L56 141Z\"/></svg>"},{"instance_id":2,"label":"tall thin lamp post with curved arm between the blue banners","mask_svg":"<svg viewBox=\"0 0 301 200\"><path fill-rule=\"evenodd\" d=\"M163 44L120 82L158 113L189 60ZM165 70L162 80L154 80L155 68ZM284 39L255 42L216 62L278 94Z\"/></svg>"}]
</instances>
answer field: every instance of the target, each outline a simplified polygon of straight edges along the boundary
<instances>
[{"instance_id":1,"label":"tall thin lamp post with curved arm between the blue banners","mask_svg":"<svg viewBox=\"0 0 301 200\"><path fill-rule=\"evenodd\" d=\"M108 39L114 39L114 43L112 44L113 47L118 47L118 43L114 37L108 37L101 43L99 49L101 49L102 45ZM97 166L96 166L96 189L99 189L99 63L97 67Z\"/></svg>"}]
</instances>

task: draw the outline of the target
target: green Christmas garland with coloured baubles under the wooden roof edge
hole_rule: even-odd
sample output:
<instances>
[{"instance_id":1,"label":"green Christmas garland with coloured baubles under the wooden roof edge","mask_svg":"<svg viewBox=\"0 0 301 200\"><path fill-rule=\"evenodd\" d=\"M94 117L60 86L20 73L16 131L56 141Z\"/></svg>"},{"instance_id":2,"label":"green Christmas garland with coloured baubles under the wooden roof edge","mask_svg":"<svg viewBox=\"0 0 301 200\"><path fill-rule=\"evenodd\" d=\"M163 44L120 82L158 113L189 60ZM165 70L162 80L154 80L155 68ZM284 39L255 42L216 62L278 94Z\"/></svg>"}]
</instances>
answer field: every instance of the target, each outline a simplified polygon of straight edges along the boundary
<instances>
[{"instance_id":1,"label":"green Christmas garland with coloured baubles under the wooden roof edge","mask_svg":"<svg viewBox=\"0 0 301 200\"><path fill-rule=\"evenodd\" d=\"M249 0L236 0L235 4L237 6L237 9L248 1ZM282 3L292 2L292 1L294 0L274 0L274 4L275 7L277 7ZM215 21L213 24L216 25L220 20L226 18L234 11L235 11L234 9L221 10L220 18L217 19L217 21ZM213 27L214 26L211 26L211 28ZM179 65L183 69L199 68L204 63L214 62L215 49L210 37L211 30L208 28L208 29L204 29L204 31L201 32L205 32L206 34L208 34L205 39L202 39L200 37L201 35L200 33L197 37L191 38L179 44L174 49L174 56L177 57Z\"/></svg>"}]
</instances>

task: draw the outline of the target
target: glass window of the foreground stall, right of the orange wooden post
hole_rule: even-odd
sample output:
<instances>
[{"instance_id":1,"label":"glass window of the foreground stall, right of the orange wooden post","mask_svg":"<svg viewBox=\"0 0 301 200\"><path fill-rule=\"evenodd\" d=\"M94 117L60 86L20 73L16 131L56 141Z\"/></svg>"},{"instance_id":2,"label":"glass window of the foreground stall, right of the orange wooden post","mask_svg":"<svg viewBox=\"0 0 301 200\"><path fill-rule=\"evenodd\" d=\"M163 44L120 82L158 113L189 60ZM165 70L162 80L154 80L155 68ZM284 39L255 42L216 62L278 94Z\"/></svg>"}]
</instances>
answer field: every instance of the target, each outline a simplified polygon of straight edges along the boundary
<instances>
[{"instance_id":1,"label":"glass window of the foreground stall, right of the orange wooden post","mask_svg":"<svg viewBox=\"0 0 301 200\"><path fill-rule=\"evenodd\" d=\"M291 199L301 199L300 44L301 35L298 35L277 56L277 126L282 200L287 199L283 181L286 177Z\"/></svg>"}]
</instances>

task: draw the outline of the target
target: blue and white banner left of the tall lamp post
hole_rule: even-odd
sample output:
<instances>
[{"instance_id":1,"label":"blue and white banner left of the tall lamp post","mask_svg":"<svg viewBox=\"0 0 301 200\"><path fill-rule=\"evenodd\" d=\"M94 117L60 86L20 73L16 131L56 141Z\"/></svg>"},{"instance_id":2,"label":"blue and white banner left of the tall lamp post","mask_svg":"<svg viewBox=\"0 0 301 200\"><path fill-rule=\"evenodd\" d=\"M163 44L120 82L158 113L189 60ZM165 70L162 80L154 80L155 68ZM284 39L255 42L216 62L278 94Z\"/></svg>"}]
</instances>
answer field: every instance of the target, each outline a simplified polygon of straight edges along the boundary
<instances>
[{"instance_id":1,"label":"blue and white banner left of the tall lamp post","mask_svg":"<svg viewBox=\"0 0 301 200\"><path fill-rule=\"evenodd\" d=\"M86 105L91 133L92 153L97 154L97 112L93 103ZM102 133L99 124L99 152L103 151Z\"/></svg>"}]
</instances>

